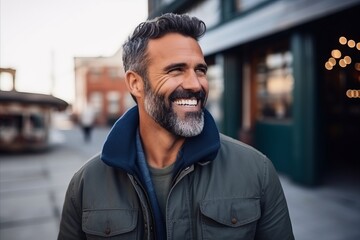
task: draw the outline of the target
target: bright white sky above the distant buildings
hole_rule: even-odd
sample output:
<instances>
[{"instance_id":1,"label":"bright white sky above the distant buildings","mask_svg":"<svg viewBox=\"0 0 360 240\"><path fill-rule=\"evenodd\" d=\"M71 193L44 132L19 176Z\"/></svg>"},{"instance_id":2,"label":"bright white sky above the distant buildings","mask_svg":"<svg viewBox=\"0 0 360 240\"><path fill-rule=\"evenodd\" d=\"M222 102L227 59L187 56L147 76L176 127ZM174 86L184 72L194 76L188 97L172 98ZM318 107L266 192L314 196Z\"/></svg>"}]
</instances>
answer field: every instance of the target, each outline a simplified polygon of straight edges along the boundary
<instances>
[{"instance_id":1,"label":"bright white sky above the distant buildings","mask_svg":"<svg viewBox=\"0 0 360 240\"><path fill-rule=\"evenodd\" d=\"M146 18L147 0L0 0L0 67L16 90L71 103L74 57L112 56Z\"/></svg>"}]
</instances>

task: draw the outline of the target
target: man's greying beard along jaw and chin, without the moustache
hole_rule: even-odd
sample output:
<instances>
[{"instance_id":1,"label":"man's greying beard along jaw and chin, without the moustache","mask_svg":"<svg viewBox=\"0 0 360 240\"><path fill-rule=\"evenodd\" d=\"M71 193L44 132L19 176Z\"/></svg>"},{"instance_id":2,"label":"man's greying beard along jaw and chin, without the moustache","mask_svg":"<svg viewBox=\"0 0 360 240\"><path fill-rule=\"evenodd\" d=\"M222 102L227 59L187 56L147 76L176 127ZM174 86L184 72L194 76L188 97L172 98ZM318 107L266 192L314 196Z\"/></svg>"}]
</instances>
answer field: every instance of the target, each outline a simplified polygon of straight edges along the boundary
<instances>
[{"instance_id":1,"label":"man's greying beard along jaw and chin, without the moustache","mask_svg":"<svg viewBox=\"0 0 360 240\"><path fill-rule=\"evenodd\" d=\"M204 111L190 112L185 119L179 118L170 106L166 106L165 97L156 95L145 85L145 111L163 128L174 135L181 137L194 137L204 128Z\"/></svg>"}]
</instances>

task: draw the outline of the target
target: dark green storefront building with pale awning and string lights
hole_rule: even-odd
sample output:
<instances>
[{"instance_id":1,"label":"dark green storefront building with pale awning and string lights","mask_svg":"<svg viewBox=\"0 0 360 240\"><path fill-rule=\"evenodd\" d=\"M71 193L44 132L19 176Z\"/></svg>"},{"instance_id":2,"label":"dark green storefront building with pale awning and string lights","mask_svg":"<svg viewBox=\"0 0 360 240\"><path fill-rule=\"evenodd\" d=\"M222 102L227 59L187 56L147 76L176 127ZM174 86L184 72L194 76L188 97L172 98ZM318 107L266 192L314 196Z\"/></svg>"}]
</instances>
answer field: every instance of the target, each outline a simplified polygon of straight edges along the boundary
<instances>
[{"instance_id":1,"label":"dark green storefront building with pale awning and string lights","mask_svg":"<svg viewBox=\"0 0 360 240\"><path fill-rule=\"evenodd\" d=\"M359 0L149 0L205 21L207 107L296 182L360 176ZM335 175L334 175L335 174Z\"/></svg>"}]
</instances>

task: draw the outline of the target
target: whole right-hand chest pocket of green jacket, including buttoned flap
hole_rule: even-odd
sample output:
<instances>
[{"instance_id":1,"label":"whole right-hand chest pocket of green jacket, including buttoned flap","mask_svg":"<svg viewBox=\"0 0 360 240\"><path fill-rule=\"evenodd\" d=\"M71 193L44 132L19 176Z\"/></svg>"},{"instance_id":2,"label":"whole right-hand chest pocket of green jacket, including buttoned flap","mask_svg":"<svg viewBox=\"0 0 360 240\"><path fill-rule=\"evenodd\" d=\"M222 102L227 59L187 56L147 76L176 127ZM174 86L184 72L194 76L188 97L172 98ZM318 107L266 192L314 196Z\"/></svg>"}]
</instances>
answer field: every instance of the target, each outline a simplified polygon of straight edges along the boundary
<instances>
[{"instance_id":1,"label":"whole right-hand chest pocket of green jacket, including buttoned flap","mask_svg":"<svg viewBox=\"0 0 360 240\"><path fill-rule=\"evenodd\" d=\"M203 239L254 239L260 199L204 200L200 212Z\"/></svg>"}]
</instances>

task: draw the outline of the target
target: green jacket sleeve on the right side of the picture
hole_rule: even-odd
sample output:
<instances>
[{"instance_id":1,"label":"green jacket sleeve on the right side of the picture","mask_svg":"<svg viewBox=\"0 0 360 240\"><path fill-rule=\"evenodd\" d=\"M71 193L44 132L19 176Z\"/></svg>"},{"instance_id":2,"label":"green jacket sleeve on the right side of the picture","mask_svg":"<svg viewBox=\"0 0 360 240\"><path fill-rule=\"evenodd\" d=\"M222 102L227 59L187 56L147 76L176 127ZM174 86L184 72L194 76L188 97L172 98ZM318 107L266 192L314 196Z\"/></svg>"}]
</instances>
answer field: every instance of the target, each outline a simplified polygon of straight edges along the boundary
<instances>
[{"instance_id":1,"label":"green jacket sleeve on the right side of the picture","mask_svg":"<svg viewBox=\"0 0 360 240\"><path fill-rule=\"evenodd\" d=\"M261 218L255 239L293 240L289 211L279 177L269 159L265 158L264 164Z\"/></svg>"}]
</instances>

